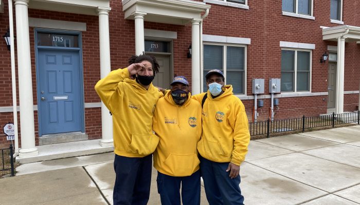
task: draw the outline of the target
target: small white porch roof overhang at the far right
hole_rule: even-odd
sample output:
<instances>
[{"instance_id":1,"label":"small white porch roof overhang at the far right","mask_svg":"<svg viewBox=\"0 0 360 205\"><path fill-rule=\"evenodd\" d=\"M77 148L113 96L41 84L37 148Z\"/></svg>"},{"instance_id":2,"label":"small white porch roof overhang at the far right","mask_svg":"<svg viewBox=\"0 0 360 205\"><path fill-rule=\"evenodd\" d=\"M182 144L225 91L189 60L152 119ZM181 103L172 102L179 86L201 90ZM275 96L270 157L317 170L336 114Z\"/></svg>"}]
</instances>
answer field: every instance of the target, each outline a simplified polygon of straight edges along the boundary
<instances>
[{"instance_id":1,"label":"small white porch roof overhang at the far right","mask_svg":"<svg viewBox=\"0 0 360 205\"><path fill-rule=\"evenodd\" d=\"M357 26L336 26L322 29L322 39L337 41L338 37L345 37L345 42L360 41L360 27Z\"/></svg>"}]
</instances>

